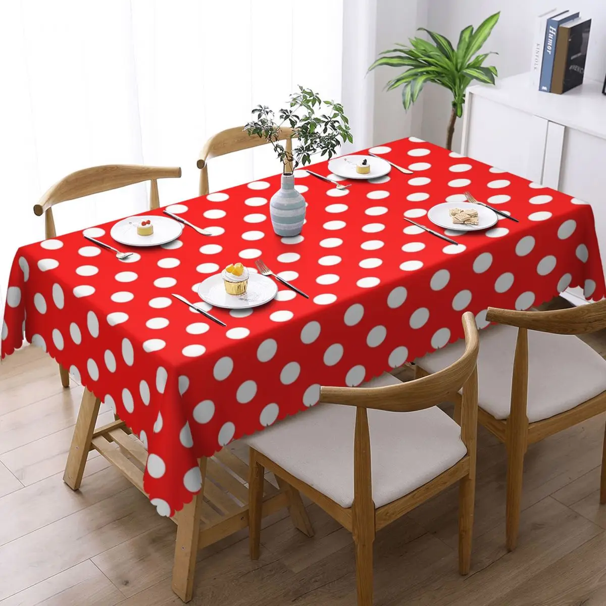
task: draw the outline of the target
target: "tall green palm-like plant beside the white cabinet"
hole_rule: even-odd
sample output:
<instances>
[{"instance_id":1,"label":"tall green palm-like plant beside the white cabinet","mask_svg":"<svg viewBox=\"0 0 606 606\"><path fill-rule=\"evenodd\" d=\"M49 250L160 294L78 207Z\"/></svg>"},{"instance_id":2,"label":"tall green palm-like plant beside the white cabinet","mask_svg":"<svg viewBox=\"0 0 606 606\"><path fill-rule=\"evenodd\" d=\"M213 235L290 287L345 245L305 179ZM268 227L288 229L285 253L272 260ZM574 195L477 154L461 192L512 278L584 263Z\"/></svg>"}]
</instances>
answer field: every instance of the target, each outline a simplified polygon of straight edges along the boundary
<instances>
[{"instance_id":1,"label":"tall green palm-like plant beside the white cabinet","mask_svg":"<svg viewBox=\"0 0 606 606\"><path fill-rule=\"evenodd\" d=\"M494 13L474 30L468 25L459 35L456 48L450 40L439 33L430 32L424 27L419 28L427 32L432 42L422 38L410 38L410 45L398 44L398 48L384 50L369 68L368 71L381 65L388 67L407 68L396 78L387 82L387 90L402 87L402 104L408 110L418 99L425 82L435 82L448 88L453 94L452 110L446 133L446 147L452 148L454 124L457 118L463 115L465 103L465 89L472 80L494 84L497 70L494 65L484 67L482 64L488 55L493 53L477 53L490 36L494 25L501 13Z\"/></svg>"}]
</instances>

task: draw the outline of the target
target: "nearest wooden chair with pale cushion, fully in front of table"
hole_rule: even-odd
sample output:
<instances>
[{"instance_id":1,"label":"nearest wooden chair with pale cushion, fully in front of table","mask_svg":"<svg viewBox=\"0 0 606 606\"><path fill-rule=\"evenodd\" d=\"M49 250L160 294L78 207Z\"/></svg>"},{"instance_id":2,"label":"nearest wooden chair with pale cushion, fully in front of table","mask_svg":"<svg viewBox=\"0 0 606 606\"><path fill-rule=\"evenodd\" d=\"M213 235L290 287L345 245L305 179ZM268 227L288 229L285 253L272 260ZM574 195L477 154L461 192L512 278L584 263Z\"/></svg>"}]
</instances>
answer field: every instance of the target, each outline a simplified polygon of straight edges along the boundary
<instances>
[{"instance_id":1,"label":"nearest wooden chair with pale cushion, fully in front of table","mask_svg":"<svg viewBox=\"0 0 606 606\"><path fill-rule=\"evenodd\" d=\"M362 387L322 387L320 402L330 404L318 404L247 438L251 558L259 557L262 482L267 468L353 533L358 606L371 606L376 531L460 481L459 571L468 573L476 470L478 331L471 313L463 316L463 325L464 353L435 375L402 383L384 374ZM459 427L436 404L461 387ZM350 407L356 407L355 412Z\"/></svg>"}]
</instances>

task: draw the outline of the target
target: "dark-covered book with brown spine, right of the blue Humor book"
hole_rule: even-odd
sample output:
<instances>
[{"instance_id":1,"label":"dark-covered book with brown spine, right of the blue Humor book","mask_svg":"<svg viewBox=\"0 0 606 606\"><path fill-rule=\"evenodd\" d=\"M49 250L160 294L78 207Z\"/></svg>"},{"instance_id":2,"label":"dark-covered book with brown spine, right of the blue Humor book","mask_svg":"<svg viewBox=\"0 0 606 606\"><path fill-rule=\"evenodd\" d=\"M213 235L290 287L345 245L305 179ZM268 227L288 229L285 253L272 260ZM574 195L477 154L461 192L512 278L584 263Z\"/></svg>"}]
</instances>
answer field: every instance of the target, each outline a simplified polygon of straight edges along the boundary
<instances>
[{"instance_id":1,"label":"dark-covered book with brown spine, right of the blue Humor book","mask_svg":"<svg viewBox=\"0 0 606 606\"><path fill-rule=\"evenodd\" d=\"M591 19L573 19L558 27L551 92L561 95L583 84Z\"/></svg>"}]
</instances>

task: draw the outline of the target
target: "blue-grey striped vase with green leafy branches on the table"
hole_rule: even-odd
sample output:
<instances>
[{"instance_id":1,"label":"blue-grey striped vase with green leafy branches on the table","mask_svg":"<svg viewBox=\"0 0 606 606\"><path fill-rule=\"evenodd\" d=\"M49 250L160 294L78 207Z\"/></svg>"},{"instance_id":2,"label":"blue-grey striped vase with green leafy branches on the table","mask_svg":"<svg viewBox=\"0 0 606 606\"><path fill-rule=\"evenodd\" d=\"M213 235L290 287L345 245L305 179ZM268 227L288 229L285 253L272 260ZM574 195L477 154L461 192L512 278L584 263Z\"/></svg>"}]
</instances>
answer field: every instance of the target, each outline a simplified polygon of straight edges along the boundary
<instances>
[{"instance_id":1,"label":"blue-grey striped vase with green leafy branches on the table","mask_svg":"<svg viewBox=\"0 0 606 606\"><path fill-rule=\"evenodd\" d=\"M257 105L252 113L244 130L270 143L282 162L281 188L270 201L273 230L279 236L296 236L305 221L305 199L295 190L294 170L310 164L316 153L330 159L341 143L353 142L349 121L340 103L322 101L318 93L301 86L290 96L288 107L279 110L279 122L267 105ZM298 140L292 149L279 143L284 126L290 127L288 137Z\"/></svg>"}]
</instances>

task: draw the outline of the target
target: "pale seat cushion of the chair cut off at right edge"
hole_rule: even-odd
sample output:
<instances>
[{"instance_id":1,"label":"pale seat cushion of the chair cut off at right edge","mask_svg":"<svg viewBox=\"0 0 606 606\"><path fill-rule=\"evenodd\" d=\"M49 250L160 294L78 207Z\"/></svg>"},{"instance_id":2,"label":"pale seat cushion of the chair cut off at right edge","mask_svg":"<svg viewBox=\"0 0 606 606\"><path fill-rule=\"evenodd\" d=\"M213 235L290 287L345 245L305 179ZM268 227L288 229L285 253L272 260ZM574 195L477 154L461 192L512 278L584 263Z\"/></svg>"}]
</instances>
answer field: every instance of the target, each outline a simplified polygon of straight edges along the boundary
<instances>
[{"instance_id":1,"label":"pale seat cushion of the chair cut off at right edge","mask_svg":"<svg viewBox=\"0 0 606 606\"><path fill-rule=\"evenodd\" d=\"M507 419L518 328L497 325L480 332L478 404L496 419ZM435 373L458 359L463 339L419 358ZM606 361L574 335L528 331L528 421L559 415L606 390Z\"/></svg>"}]
</instances>

